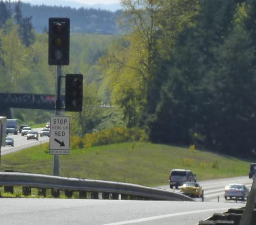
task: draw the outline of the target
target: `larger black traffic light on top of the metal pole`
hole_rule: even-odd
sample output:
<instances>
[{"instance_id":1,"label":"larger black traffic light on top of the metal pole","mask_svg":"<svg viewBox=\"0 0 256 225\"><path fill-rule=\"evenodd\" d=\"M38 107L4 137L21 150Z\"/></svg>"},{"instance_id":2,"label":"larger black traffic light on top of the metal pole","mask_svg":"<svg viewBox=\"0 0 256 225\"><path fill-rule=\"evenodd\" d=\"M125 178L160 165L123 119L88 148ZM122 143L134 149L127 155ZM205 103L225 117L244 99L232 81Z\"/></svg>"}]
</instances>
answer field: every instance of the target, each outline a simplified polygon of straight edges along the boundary
<instances>
[{"instance_id":1,"label":"larger black traffic light on top of the metal pole","mask_svg":"<svg viewBox=\"0 0 256 225\"><path fill-rule=\"evenodd\" d=\"M69 65L69 33L69 18L49 18L49 65Z\"/></svg>"}]
</instances>

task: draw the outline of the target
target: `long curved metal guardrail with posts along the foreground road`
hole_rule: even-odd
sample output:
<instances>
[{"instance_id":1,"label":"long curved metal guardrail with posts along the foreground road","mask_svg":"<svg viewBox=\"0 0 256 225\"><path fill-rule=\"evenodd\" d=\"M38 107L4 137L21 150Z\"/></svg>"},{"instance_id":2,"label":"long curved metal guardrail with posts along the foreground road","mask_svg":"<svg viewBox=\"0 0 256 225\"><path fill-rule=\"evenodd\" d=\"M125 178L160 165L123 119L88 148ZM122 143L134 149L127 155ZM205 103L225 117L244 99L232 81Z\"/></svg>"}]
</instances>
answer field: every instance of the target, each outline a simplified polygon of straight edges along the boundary
<instances>
[{"instance_id":1,"label":"long curved metal guardrail with posts along the foreground road","mask_svg":"<svg viewBox=\"0 0 256 225\"><path fill-rule=\"evenodd\" d=\"M24 195L31 194L31 188L38 188L38 194L44 196L46 195L46 189L51 189L54 197L59 197L59 190L64 190L65 195L70 198L72 192L78 191L80 198L87 198L87 192L91 192L91 198L93 199L98 199L99 193L101 193L102 199L194 201L194 199L183 194L159 188L22 172L0 172L0 186L4 186L5 192L11 193L13 193L13 186L22 186ZM120 196L121 198L119 198Z\"/></svg>"}]
</instances>

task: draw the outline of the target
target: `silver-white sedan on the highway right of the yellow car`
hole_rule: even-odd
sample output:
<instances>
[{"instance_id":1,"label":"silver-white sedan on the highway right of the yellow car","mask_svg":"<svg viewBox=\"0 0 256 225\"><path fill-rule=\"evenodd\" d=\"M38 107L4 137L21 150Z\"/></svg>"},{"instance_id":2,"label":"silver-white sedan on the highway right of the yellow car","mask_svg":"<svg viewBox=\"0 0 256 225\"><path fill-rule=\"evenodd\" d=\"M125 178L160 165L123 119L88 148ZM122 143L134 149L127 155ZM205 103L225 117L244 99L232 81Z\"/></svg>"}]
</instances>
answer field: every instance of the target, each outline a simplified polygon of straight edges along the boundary
<instances>
[{"instance_id":1,"label":"silver-white sedan on the highway right of the yellow car","mask_svg":"<svg viewBox=\"0 0 256 225\"><path fill-rule=\"evenodd\" d=\"M243 201L249 196L249 189L243 184L230 184L225 187L224 198L241 198Z\"/></svg>"}]
</instances>

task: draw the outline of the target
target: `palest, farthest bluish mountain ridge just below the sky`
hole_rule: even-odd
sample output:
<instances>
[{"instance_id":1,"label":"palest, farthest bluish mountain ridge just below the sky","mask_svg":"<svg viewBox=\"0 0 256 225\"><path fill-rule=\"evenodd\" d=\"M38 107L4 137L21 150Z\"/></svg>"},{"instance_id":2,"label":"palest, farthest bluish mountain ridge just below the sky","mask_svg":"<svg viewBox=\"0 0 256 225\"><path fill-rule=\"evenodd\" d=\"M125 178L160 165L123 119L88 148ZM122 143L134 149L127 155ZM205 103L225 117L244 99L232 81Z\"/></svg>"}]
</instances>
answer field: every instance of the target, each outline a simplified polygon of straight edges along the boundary
<instances>
[{"instance_id":1,"label":"palest, farthest bluish mountain ridge just below the sky","mask_svg":"<svg viewBox=\"0 0 256 225\"><path fill-rule=\"evenodd\" d=\"M109 10L109 11L117 11L121 9L121 5L119 3L115 4L82 4L76 1L63 1L63 0L23 0L22 2L30 3L31 5L49 5L49 6L69 6L71 8L79 9L83 8L93 8L93 9L102 9L102 10Z\"/></svg>"}]
</instances>

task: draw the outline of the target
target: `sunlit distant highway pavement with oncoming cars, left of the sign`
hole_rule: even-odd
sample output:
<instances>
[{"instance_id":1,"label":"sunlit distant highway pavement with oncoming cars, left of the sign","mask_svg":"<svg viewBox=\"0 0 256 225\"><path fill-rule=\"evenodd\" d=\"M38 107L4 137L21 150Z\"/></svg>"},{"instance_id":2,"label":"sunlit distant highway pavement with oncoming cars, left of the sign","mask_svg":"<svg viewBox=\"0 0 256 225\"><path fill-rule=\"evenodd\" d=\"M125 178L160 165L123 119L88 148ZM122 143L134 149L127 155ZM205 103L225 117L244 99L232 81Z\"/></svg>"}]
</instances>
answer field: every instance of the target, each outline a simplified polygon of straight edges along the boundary
<instances>
[{"instance_id":1,"label":"sunlit distant highway pavement with oncoming cars, left of the sign","mask_svg":"<svg viewBox=\"0 0 256 225\"><path fill-rule=\"evenodd\" d=\"M34 128L32 130L37 130L38 132L41 131L42 128ZM18 133L18 135L14 135L14 134L9 134L9 137L12 137L14 140L14 146L5 146L5 147L1 147L1 155L5 155L11 152L17 152L19 150L22 150L23 148L27 148L27 147L31 147L34 145L40 145L41 143L45 143L49 141L49 137L40 137L39 135L39 140L27 140L26 136L21 136L20 133Z\"/></svg>"}]
</instances>

